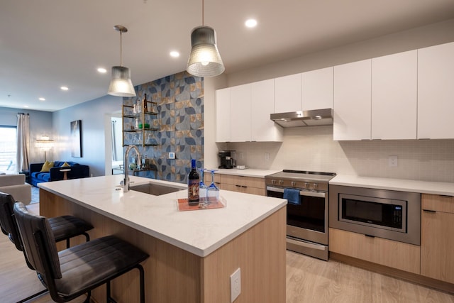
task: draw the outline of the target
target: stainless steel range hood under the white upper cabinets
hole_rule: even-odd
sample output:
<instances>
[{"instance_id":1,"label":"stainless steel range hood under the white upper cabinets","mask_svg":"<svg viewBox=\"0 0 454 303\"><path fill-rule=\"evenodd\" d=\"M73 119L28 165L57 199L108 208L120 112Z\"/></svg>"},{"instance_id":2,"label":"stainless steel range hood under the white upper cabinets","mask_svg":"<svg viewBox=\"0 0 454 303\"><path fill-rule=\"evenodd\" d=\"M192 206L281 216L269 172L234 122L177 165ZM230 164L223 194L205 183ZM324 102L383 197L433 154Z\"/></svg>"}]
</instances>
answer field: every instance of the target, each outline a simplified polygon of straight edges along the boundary
<instances>
[{"instance_id":1,"label":"stainless steel range hood under the white upper cabinets","mask_svg":"<svg viewBox=\"0 0 454 303\"><path fill-rule=\"evenodd\" d=\"M289 113L271 114L270 119L284 128L333 125L333 109L314 109L311 111L291 111Z\"/></svg>"}]
</instances>

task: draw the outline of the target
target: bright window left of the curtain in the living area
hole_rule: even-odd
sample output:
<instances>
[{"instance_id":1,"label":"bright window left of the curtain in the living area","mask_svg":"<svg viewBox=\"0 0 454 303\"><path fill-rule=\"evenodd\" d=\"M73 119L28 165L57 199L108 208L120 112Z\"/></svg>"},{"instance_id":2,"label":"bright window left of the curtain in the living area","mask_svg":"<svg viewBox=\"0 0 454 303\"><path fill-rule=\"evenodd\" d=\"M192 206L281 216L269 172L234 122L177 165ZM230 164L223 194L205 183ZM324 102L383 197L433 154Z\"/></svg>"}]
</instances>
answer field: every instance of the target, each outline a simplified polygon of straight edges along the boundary
<instances>
[{"instance_id":1,"label":"bright window left of the curtain in the living area","mask_svg":"<svg viewBox=\"0 0 454 303\"><path fill-rule=\"evenodd\" d=\"M0 172L16 173L16 126L0 126Z\"/></svg>"}]
</instances>

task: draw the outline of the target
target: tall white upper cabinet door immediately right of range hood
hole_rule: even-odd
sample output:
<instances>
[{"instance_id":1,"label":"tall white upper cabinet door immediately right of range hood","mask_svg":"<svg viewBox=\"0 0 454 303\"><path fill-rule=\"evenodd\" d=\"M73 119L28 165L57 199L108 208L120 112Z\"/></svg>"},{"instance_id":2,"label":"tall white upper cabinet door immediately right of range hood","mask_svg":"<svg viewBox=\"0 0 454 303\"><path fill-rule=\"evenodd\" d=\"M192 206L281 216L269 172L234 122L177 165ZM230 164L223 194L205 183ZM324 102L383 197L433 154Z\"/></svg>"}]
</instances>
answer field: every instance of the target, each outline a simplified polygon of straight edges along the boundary
<instances>
[{"instance_id":1,"label":"tall white upper cabinet door immediately right of range hood","mask_svg":"<svg viewBox=\"0 0 454 303\"><path fill-rule=\"evenodd\" d=\"M370 140L371 60L334 67L334 140Z\"/></svg>"}]
</instances>

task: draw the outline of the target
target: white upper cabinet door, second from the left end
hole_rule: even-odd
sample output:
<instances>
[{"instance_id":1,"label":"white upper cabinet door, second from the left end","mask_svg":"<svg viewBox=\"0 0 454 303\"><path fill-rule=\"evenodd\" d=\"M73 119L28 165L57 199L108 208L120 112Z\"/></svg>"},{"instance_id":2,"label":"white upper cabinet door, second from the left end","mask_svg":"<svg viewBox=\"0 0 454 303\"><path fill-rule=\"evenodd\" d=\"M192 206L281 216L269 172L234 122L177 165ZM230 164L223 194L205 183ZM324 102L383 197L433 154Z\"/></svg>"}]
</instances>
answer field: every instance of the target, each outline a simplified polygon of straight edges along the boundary
<instances>
[{"instance_id":1,"label":"white upper cabinet door, second from the left end","mask_svg":"<svg viewBox=\"0 0 454 303\"><path fill-rule=\"evenodd\" d=\"M250 85L231 87L231 141L250 141Z\"/></svg>"}]
</instances>

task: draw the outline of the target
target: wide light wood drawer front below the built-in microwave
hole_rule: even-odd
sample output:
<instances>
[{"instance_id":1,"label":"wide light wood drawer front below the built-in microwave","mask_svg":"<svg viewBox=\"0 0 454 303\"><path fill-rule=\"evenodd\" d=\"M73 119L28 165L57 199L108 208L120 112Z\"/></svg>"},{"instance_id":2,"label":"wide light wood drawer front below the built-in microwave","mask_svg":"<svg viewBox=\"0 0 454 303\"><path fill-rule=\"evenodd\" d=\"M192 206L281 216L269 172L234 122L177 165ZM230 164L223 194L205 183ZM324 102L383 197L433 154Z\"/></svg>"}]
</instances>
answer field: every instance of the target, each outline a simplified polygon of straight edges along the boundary
<instances>
[{"instance_id":1,"label":"wide light wood drawer front below the built-in microwave","mask_svg":"<svg viewBox=\"0 0 454 303\"><path fill-rule=\"evenodd\" d=\"M329 250L390 268L420 273L421 250L412 244L329 228Z\"/></svg>"}]
</instances>

